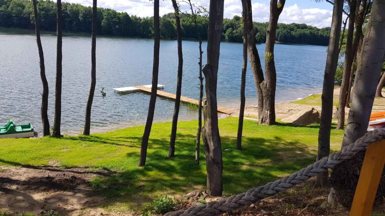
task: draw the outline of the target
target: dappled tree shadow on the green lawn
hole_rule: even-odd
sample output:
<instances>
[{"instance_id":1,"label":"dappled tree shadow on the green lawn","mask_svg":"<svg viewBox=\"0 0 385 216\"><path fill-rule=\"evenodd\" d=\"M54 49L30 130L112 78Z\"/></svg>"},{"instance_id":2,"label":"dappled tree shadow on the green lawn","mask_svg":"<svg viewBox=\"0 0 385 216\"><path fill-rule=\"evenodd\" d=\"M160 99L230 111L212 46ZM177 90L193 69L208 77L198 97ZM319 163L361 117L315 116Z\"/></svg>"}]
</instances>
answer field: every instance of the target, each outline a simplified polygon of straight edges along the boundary
<instances>
[{"instance_id":1,"label":"dappled tree shadow on the green lawn","mask_svg":"<svg viewBox=\"0 0 385 216\"><path fill-rule=\"evenodd\" d=\"M111 138L110 140L114 140ZM117 137L119 141L132 137ZM189 141L189 140L192 140ZM177 134L176 157L167 158L168 139L150 139L146 166L133 168L91 183L100 196L108 200L105 206L130 203L132 207L151 201L159 194L185 194L206 185L206 161L201 152L201 164L194 161L195 136ZM285 141L280 137L243 138L243 150L236 150L236 138L221 136L223 151L224 194L237 194L293 173L315 160L304 143ZM139 158L139 152L127 153L127 158Z\"/></svg>"}]
</instances>

